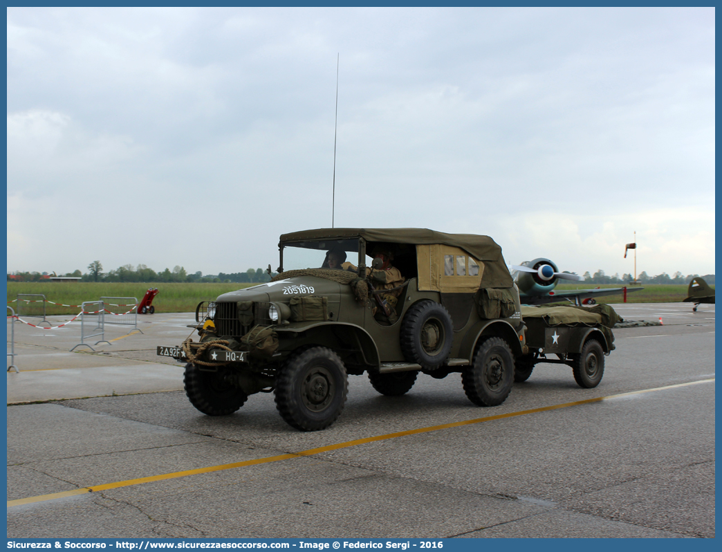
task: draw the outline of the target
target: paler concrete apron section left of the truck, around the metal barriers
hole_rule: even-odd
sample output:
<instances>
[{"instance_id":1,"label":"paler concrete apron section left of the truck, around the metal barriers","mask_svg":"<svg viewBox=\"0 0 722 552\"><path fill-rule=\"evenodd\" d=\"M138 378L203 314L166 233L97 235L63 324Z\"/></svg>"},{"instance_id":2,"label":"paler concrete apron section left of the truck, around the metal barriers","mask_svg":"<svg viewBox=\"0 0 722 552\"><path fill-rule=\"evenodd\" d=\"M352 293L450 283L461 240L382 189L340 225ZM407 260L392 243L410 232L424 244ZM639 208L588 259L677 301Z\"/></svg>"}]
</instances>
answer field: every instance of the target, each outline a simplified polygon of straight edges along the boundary
<instances>
[{"instance_id":1,"label":"paler concrete apron section left of the truck, around the metal barriers","mask_svg":"<svg viewBox=\"0 0 722 552\"><path fill-rule=\"evenodd\" d=\"M187 326L194 322L193 313L139 315L137 329L105 324L103 336L85 339L83 345L80 322L59 327L69 318L48 316L55 329L14 323L19 374L9 372L9 404L183 389L183 365L155 351L157 345L178 345L191 335Z\"/></svg>"}]
</instances>

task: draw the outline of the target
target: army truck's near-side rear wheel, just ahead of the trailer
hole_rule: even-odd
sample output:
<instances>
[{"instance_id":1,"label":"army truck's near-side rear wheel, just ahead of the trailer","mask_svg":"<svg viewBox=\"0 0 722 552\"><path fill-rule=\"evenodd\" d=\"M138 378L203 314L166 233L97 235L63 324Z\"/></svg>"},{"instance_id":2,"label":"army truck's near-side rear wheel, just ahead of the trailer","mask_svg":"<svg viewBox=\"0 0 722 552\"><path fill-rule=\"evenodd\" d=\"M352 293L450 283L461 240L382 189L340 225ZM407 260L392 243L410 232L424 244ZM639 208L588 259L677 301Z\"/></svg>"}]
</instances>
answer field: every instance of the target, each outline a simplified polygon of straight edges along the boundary
<instances>
[{"instance_id":1,"label":"army truck's near-side rear wheel, just ahead of the trailer","mask_svg":"<svg viewBox=\"0 0 722 552\"><path fill-rule=\"evenodd\" d=\"M514 381L514 357L501 337L477 346L471 366L461 372L466 397L475 405L497 406L506 400Z\"/></svg>"}]
</instances>

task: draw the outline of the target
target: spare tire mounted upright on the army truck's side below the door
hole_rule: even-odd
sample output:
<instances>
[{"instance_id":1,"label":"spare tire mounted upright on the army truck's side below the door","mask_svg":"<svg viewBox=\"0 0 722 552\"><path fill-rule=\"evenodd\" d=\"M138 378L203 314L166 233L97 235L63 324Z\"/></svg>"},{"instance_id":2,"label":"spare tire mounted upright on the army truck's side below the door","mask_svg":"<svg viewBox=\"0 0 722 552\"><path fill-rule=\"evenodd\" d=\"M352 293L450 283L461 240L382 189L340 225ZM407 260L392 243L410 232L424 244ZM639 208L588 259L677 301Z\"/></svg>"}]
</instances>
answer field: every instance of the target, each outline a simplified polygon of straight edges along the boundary
<instances>
[{"instance_id":1,"label":"spare tire mounted upright on the army truck's side below the door","mask_svg":"<svg viewBox=\"0 0 722 552\"><path fill-rule=\"evenodd\" d=\"M401 351L407 362L433 370L451 353L453 324L444 306L425 299L406 311L401 322Z\"/></svg>"}]
</instances>

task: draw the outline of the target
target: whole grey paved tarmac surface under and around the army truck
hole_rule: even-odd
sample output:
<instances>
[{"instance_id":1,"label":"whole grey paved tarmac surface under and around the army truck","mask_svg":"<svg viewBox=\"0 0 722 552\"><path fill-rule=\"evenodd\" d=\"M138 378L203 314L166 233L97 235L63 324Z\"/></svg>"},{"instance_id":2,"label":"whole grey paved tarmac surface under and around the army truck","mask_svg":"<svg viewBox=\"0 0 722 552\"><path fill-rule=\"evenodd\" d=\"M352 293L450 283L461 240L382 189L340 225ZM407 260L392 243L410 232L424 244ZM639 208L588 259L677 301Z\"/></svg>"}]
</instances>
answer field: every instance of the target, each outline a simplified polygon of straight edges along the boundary
<instances>
[{"instance_id":1,"label":"whole grey paved tarmac surface under and around the army truck","mask_svg":"<svg viewBox=\"0 0 722 552\"><path fill-rule=\"evenodd\" d=\"M313 433L267 394L196 411L182 365L155 356L193 314L106 325L95 352L69 352L79 325L16 323L8 536L713 537L714 306L615 309L664 325L614 330L595 389L542 364L484 409L458 374L403 397L350 376L342 417Z\"/></svg>"}]
</instances>

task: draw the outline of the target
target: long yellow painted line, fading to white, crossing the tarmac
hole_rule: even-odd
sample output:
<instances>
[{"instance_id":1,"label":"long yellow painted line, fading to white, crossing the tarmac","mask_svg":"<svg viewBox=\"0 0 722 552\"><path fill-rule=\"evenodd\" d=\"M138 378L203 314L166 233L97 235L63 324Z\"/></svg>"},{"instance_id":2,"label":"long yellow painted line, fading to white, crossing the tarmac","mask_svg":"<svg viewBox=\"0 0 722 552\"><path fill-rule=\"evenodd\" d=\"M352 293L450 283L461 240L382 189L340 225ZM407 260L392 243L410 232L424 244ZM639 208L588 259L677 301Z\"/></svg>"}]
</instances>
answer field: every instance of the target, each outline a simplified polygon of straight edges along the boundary
<instances>
[{"instance_id":1,"label":"long yellow painted line, fading to white, crossing the tarmac","mask_svg":"<svg viewBox=\"0 0 722 552\"><path fill-rule=\"evenodd\" d=\"M642 389L640 391L631 391L628 393L619 393L609 395L606 397L594 397L593 399L577 400L574 402L564 402L560 405L544 406L539 408L531 408L530 410L520 410L518 412L510 412L507 414L498 414L495 416L485 416L484 418L474 418L473 420L464 420L460 422L443 423L438 426L428 426L425 428L409 429L407 431L396 431L393 434L377 435L373 437L366 437L365 439L355 439L354 441L345 441L343 443L331 444L326 447L318 447L316 449L308 449L295 454L279 454L277 456L269 456L265 458L258 458L257 460L245 460L243 462L233 462L232 464L221 464L217 466L200 467L196 470L184 470L181 472L164 473L162 475L151 475L147 478L129 479L125 481L116 481L116 483L105 483L103 485L94 485L76 489L74 491L66 491L64 493L45 494L41 496L32 496L27 499L9 500L7 507L20 506L21 504L32 504L33 502L43 502L48 500L62 499L66 496L74 496L84 493L108 491L113 488L129 487L132 485L142 485L143 483L153 483L155 481L162 481L167 479L184 478L188 475L200 475L202 473L213 473L222 470L232 470L236 467L253 466L258 464L269 464L270 462L279 462L280 460L290 460L292 458L308 457L314 454L321 454L321 452L330 452L332 450L346 449L348 447L356 447L360 444L374 443L377 441L386 441L388 439L396 439L397 437L404 437L408 435L418 435L429 433L430 431L440 431L442 429L458 428L463 426L471 426L475 423L490 422L495 420L503 420L505 418L513 418L515 416L523 416L526 414L536 414L540 412L548 412L550 410L559 410L560 408L567 408L570 406L588 405L593 402L601 402L604 400L617 399L619 397L629 397L630 395L651 393L656 391L664 391L666 389L675 389L677 387L689 387L690 385L704 384L715 381L714 378L701 379L698 381L688 381L684 384L666 385L664 387L654 387L653 389Z\"/></svg>"}]
</instances>

